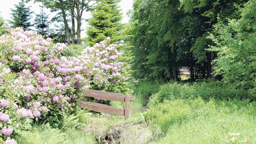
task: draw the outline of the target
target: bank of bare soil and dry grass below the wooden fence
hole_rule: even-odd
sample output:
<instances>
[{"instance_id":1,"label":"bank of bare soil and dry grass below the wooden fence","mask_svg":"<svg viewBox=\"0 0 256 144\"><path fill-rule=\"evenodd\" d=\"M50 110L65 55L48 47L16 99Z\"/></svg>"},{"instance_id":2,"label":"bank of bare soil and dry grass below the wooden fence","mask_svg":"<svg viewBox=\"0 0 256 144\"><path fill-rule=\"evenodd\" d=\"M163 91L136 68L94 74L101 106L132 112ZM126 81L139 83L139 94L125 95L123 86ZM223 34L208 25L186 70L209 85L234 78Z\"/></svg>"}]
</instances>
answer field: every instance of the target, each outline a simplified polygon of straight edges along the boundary
<instances>
[{"instance_id":1,"label":"bank of bare soil and dry grass below the wooden fence","mask_svg":"<svg viewBox=\"0 0 256 144\"><path fill-rule=\"evenodd\" d=\"M109 123L98 123L95 121L87 125L87 129L96 137L96 143L98 144L150 143L152 133L145 122L131 122L117 125L111 124L111 122L114 122L112 120L105 120L105 122Z\"/></svg>"}]
</instances>

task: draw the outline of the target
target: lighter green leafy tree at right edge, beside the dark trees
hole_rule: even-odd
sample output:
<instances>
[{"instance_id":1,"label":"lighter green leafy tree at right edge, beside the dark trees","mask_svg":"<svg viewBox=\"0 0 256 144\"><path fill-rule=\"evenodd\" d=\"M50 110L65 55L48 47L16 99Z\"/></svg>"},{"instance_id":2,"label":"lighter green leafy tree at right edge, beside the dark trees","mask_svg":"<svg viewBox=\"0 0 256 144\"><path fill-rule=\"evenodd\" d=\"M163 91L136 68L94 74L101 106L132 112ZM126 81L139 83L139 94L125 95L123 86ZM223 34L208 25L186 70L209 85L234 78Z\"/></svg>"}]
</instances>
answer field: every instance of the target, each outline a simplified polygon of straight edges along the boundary
<instances>
[{"instance_id":1,"label":"lighter green leafy tree at right edge, beside the dark trees","mask_svg":"<svg viewBox=\"0 0 256 144\"><path fill-rule=\"evenodd\" d=\"M210 50L218 52L214 69L223 75L223 81L249 90L255 97L256 1L249 1L241 11L240 19L215 25L215 33L210 36L215 45Z\"/></svg>"}]
</instances>

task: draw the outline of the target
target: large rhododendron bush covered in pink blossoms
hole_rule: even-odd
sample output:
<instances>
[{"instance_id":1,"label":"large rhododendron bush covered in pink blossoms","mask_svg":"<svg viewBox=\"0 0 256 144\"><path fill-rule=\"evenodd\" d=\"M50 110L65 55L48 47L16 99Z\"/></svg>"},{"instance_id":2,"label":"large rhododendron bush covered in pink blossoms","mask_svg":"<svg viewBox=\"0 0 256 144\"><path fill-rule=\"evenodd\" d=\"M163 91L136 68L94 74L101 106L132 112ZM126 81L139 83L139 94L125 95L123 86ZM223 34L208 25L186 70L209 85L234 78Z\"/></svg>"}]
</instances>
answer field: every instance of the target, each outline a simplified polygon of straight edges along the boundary
<instances>
[{"instance_id":1,"label":"large rhododendron bush covered in pink blossoms","mask_svg":"<svg viewBox=\"0 0 256 144\"><path fill-rule=\"evenodd\" d=\"M57 127L84 99L88 88L109 89L125 79L123 62L110 38L65 57L66 45L54 44L33 31L11 29L0 37L0 143L13 139L33 122Z\"/></svg>"}]
</instances>

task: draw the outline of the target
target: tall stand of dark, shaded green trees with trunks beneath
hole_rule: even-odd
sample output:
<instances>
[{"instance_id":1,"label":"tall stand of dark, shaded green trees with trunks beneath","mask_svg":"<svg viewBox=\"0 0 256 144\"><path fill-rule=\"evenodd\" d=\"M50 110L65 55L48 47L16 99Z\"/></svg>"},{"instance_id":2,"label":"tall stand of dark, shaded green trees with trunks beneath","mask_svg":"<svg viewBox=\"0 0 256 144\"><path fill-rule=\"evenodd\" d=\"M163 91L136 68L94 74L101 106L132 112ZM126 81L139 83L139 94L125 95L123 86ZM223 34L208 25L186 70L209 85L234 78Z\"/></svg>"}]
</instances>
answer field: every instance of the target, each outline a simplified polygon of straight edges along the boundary
<instances>
[{"instance_id":1,"label":"tall stand of dark, shaded green trees with trunks beneath","mask_svg":"<svg viewBox=\"0 0 256 144\"><path fill-rule=\"evenodd\" d=\"M129 39L134 46L133 76L138 79L177 80L187 67L191 80L215 77L217 52L209 38L214 25L238 19L246 0L135 0ZM217 34L216 34L217 35ZM215 74L215 75L214 75Z\"/></svg>"}]
</instances>

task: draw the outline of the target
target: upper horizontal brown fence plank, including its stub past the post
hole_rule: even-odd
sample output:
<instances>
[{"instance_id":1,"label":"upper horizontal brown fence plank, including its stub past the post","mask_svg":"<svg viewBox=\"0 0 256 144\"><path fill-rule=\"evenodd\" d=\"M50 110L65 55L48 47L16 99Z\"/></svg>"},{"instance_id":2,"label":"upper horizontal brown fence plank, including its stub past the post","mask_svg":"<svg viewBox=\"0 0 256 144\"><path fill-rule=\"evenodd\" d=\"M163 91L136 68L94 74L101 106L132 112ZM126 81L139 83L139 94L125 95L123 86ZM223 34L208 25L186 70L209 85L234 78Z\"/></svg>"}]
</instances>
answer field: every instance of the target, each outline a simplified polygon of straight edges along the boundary
<instances>
[{"instance_id":1,"label":"upper horizontal brown fence plank, including its stub past the post","mask_svg":"<svg viewBox=\"0 0 256 144\"><path fill-rule=\"evenodd\" d=\"M122 94L91 90L91 89L84 91L84 96L95 97L102 100L120 101L120 102L124 102L124 99L125 99L125 95L122 95ZM129 98L130 98L130 101L135 100L133 96L129 96Z\"/></svg>"}]
</instances>

